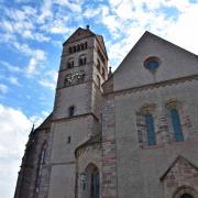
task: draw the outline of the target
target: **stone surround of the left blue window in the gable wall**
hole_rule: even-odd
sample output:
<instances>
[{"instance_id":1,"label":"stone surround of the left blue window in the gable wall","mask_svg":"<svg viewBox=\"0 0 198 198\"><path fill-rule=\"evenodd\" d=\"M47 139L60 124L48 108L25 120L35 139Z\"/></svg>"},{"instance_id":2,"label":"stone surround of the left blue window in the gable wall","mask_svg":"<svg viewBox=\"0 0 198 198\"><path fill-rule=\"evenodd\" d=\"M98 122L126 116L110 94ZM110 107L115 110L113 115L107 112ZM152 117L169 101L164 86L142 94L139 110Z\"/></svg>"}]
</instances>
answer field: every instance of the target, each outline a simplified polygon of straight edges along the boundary
<instances>
[{"instance_id":1,"label":"stone surround of the left blue window in the gable wall","mask_svg":"<svg viewBox=\"0 0 198 198\"><path fill-rule=\"evenodd\" d=\"M145 123L145 116L152 114L154 121L154 133L155 133L155 144L148 144L147 142L147 130ZM143 147L151 147L157 145L157 124L156 124L156 105L155 103L147 103L140 108L140 111L136 112L136 125L138 125L138 135L139 135L139 143Z\"/></svg>"}]
</instances>

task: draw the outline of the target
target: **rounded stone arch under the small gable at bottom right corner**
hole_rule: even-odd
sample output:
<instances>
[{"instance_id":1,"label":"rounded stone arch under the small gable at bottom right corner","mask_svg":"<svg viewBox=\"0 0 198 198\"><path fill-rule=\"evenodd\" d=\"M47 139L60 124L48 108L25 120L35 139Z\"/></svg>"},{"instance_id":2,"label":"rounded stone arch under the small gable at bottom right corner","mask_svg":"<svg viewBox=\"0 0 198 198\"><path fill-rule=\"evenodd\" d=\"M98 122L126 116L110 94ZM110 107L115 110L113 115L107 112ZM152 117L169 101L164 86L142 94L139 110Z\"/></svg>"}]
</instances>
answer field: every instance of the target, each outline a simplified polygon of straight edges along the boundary
<instances>
[{"instance_id":1,"label":"rounded stone arch under the small gable at bottom right corner","mask_svg":"<svg viewBox=\"0 0 198 198\"><path fill-rule=\"evenodd\" d=\"M184 194L189 194L194 198L198 197L198 191L195 188L189 186L182 186L176 189L172 198L180 198Z\"/></svg>"}]
</instances>

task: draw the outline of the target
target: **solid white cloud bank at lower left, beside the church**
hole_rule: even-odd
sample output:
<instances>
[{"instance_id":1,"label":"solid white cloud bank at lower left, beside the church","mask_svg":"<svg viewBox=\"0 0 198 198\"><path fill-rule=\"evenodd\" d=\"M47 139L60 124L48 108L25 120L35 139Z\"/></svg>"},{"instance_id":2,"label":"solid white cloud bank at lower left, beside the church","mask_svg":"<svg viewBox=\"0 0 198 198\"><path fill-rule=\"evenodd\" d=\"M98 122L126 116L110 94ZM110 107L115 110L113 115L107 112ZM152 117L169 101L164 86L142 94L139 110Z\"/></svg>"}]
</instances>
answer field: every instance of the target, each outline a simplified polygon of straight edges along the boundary
<instances>
[{"instance_id":1,"label":"solid white cloud bank at lower left, beside the church","mask_svg":"<svg viewBox=\"0 0 198 198\"><path fill-rule=\"evenodd\" d=\"M0 195L10 198L32 123L20 110L0 105Z\"/></svg>"}]
</instances>

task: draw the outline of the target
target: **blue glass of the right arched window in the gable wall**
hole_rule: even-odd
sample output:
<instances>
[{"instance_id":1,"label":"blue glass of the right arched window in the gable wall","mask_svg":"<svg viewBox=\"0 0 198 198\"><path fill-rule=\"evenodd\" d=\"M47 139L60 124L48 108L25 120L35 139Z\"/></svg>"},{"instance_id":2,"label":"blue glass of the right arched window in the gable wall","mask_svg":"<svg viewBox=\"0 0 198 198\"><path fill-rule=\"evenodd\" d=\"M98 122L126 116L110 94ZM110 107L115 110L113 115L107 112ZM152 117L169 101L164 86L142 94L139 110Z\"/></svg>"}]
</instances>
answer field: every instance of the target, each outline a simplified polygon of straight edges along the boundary
<instances>
[{"instance_id":1,"label":"blue glass of the right arched window in the gable wall","mask_svg":"<svg viewBox=\"0 0 198 198\"><path fill-rule=\"evenodd\" d=\"M175 141L184 141L183 130L180 125L180 118L176 108L169 109L172 125L174 130Z\"/></svg>"}]
</instances>

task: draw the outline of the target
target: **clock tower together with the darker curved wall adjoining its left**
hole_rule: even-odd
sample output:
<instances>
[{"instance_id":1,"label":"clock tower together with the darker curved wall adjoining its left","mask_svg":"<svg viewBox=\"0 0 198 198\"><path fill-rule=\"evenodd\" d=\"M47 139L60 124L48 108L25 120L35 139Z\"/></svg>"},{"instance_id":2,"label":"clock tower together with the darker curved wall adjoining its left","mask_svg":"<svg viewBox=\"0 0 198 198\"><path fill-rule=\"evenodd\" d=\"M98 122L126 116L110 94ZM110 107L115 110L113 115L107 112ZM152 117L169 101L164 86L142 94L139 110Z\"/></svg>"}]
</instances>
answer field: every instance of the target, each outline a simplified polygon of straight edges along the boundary
<instances>
[{"instance_id":1,"label":"clock tower together with the darker curved wall adjoining its left","mask_svg":"<svg viewBox=\"0 0 198 198\"><path fill-rule=\"evenodd\" d=\"M108 56L101 35L77 29L63 44L54 110L32 130L14 198L75 198L76 148L101 134Z\"/></svg>"}]
</instances>

